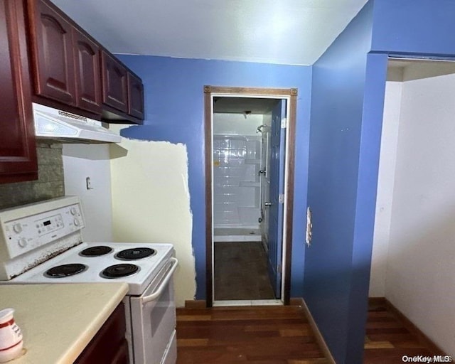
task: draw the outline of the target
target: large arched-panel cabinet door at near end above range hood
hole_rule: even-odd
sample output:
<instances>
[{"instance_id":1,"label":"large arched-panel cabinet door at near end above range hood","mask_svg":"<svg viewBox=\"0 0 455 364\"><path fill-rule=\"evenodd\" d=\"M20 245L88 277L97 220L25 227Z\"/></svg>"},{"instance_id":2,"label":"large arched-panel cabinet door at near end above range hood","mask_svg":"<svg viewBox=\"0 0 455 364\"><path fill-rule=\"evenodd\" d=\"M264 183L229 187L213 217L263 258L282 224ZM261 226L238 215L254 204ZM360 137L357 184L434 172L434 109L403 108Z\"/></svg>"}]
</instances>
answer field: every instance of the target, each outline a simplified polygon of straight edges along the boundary
<instances>
[{"instance_id":1,"label":"large arched-panel cabinet door at near end above range hood","mask_svg":"<svg viewBox=\"0 0 455 364\"><path fill-rule=\"evenodd\" d=\"M75 105L73 26L43 1L29 1L33 15L36 93Z\"/></svg>"}]
</instances>

